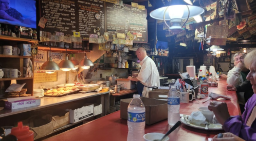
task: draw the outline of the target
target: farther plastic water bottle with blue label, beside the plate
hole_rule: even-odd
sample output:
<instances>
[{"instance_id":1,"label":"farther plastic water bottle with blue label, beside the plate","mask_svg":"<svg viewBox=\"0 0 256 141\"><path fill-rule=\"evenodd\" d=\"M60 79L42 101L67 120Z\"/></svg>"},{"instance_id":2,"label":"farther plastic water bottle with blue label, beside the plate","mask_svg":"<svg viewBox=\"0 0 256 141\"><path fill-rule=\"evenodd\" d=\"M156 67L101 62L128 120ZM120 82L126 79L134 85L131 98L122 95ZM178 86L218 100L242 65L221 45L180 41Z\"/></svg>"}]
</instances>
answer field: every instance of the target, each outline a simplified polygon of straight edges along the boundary
<instances>
[{"instance_id":1,"label":"farther plastic water bottle with blue label, beside the plate","mask_svg":"<svg viewBox=\"0 0 256 141\"><path fill-rule=\"evenodd\" d=\"M175 86L171 86L168 93L168 124L170 126L174 126L180 120L179 107L179 93Z\"/></svg>"}]
</instances>

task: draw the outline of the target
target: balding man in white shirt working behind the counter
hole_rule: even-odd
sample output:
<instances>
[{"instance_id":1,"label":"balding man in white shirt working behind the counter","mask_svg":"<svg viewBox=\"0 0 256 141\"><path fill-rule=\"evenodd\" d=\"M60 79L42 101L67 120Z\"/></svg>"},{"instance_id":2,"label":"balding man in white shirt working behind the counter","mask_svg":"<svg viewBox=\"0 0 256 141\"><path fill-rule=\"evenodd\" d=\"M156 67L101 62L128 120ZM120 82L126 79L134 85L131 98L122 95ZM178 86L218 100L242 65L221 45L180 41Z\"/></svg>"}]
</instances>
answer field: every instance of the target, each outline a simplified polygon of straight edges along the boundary
<instances>
[{"instance_id":1,"label":"balding man in white shirt working behind the counter","mask_svg":"<svg viewBox=\"0 0 256 141\"><path fill-rule=\"evenodd\" d=\"M128 79L137 82L140 96L149 97L149 91L160 86L159 73L155 62L147 55L144 48L138 48L136 55L140 60L140 71L137 77L129 76Z\"/></svg>"}]
</instances>

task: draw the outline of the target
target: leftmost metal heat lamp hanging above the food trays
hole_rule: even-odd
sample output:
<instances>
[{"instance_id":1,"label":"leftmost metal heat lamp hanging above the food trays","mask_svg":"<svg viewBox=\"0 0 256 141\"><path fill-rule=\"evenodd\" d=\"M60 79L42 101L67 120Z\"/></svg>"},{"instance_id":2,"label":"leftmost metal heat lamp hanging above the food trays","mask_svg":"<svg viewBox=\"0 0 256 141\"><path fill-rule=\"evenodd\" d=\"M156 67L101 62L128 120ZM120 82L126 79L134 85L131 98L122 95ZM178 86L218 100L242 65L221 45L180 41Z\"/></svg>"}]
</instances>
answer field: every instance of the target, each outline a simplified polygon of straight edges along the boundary
<instances>
[{"instance_id":1,"label":"leftmost metal heat lamp hanging above the food trays","mask_svg":"<svg viewBox=\"0 0 256 141\"><path fill-rule=\"evenodd\" d=\"M48 58L48 61L46 61L41 67L40 70L43 70L45 73L54 73L57 70L60 70L60 67L52 61L51 57L51 47L50 47L50 57Z\"/></svg>"}]
</instances>

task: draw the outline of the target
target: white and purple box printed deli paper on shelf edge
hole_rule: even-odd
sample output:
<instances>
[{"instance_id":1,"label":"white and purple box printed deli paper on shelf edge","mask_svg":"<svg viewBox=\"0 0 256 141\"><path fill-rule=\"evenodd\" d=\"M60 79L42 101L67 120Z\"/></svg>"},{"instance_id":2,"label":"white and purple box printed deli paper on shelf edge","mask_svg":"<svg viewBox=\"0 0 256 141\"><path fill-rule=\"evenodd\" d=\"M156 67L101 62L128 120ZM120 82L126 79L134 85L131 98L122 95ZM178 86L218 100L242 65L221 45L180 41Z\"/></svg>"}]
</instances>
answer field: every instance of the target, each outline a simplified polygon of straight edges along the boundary
<instances>
[{"instance_id":1,"label":"white and purple box printed deli paper on shelf edge","mask_svg":"<svg viewBox=\"0 0 256 141\"><path fill-rule=\"evenodd\" d=\"M25 107L31 107L31 106L38 106L41 104L40 98L32 98L32 99L23 99L18 100L15 102L5 102L5 107L8 109L19 109L19 108L25 108Z\"/></svg>"}]
</instances>

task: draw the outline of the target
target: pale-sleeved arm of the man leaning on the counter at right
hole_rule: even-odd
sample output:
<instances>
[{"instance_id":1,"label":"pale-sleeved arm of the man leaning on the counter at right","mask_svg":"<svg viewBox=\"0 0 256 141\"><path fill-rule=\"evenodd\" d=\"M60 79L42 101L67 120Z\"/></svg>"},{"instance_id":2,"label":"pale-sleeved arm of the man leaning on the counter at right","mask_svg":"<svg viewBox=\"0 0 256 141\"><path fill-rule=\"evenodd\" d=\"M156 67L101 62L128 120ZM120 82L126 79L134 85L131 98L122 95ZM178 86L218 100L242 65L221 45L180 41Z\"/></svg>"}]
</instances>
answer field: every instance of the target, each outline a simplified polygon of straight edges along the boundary
<instances>
[{"instance_id":1,"label":"pale-sleeved arm of the man leaning on the counter at right","mask_svg":"<svg viewBox=\"0 0 256 141\"><path fill-rule=\"evenodd\" d=\"M228 72L227 84L228 85L237 85L240 83L240 72L241 68L235 67Z\"/></svg>"}]
</instances>

